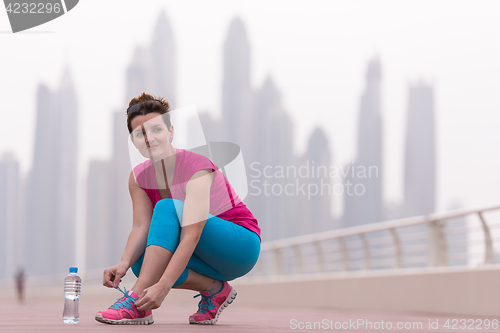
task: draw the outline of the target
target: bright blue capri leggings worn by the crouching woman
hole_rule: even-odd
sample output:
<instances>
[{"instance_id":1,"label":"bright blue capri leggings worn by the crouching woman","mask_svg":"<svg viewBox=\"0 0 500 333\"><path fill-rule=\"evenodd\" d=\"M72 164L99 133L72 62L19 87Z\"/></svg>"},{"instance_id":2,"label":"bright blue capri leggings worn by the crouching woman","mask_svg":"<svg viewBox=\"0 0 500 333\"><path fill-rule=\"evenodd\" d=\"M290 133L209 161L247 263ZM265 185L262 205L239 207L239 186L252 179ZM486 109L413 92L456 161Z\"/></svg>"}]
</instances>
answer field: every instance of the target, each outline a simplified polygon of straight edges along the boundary
<instances>
[{"instance_id":1,"label":"bright blue capri leggings worn by the crouching woman","mask_svg":"<svg viewBox=\"0 0 500 333\"><path fill-rule=\"evenodd\" d=\"M147 246L158 245L175 252L180 240L183 207L184 202L175 199L162 199L156 203ZM188 268L213 279L234 280L253 268L259 253L260 239L256 233L209 214L198 245L173 288L186 281ZM137 277L143 259L144 253L132 265Z\"/></svg>"}]
</instances>

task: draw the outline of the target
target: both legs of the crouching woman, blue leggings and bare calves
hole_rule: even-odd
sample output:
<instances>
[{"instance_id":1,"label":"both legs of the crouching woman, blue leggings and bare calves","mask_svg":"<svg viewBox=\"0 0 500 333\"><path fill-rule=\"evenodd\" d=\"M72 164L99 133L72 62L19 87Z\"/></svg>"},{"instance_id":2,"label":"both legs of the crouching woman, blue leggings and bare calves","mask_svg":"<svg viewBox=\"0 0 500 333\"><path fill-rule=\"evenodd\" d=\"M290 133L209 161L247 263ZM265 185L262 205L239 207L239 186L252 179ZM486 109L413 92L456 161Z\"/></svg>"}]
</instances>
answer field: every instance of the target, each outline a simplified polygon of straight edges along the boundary
<instances>
[{"instance_id":1,"label":"both legs of the crouching woman, blue leggings and bare calves","mask_svg":"<svg viewBox=\"0 0 500 333\"><path fill-rule=\"evenodd\" d=\"M183 204L175 199L156 204L144 261L141 265L141 257L132 267L138 275L132 288L136 293L158 282L165 271L179 244ZM229 281L243 276L255 265L259 251L255 233L210 215L187 268L173 287L202 291L213 285L214 279Z\"/></svg>"}]
</instances>

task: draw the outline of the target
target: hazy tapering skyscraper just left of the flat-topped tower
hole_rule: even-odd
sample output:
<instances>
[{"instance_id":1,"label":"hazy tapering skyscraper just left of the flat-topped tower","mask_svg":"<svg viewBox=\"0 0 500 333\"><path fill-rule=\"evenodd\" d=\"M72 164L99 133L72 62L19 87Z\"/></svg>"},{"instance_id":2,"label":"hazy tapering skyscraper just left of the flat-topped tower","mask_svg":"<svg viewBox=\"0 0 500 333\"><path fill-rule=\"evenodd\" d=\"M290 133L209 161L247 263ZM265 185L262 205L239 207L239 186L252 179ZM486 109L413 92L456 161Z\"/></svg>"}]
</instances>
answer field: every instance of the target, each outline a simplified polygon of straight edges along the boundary
<instances>
[{"instance_id":1,"label":"hazy tapering skyscraper just left of the flat-topped tower","mask_svg":"<svg viewBox=\"0 0 500 333\"><path fill-rule=\"evenodd\" d=\"M344 191L344 227L382 221L381 72L380 60L370 60L359 110L357 158L346 166L351 169L345 181L352 186L350 194Z\"/></svg>"}]
</instances>

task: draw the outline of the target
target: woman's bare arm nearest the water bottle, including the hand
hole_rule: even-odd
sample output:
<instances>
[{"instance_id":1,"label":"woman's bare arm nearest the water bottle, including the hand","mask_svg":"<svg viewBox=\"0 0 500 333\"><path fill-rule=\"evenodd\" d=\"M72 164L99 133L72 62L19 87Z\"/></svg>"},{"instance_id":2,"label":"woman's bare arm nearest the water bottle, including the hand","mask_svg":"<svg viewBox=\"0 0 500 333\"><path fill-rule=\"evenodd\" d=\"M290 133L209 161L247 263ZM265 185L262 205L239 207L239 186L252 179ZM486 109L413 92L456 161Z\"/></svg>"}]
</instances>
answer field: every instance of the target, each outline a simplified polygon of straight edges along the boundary
<instances>
[{"instance_id":1,"label":"woman's bare arm nearest the water bottle, including the hand","mask_svg":"<svg viewBox=\"0 0 500 333\"><path fill-rule=\"evenodd\" d=\"M104 271L103 284L110 288L120 284L120 279L146 249L151 223L153 205L146 192L136 184L133 171L130 173L128 187L132 198L133 225L120 263Z\"/></svg>"}]
</instances>

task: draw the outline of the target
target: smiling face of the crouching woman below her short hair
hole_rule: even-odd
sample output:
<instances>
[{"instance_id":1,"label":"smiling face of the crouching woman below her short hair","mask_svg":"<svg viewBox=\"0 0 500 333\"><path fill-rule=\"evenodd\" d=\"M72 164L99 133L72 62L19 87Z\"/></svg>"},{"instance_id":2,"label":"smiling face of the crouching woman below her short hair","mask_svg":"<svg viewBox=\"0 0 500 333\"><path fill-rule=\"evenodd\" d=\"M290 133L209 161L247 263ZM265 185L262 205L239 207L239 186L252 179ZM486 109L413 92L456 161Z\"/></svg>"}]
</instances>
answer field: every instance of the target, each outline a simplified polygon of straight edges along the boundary
<instances>
[{"instance_id":1,"label":"smiling face of the crouching woman below her short hair","mask_svg":"<svg viewBox=\"0 0 500 333\"><path fill-rule=\"evenodd\" d=\"M157 162L172 155L174 127L167 128L161 114L151 112L136 116L131 125L130 137L142 156Z\"/></svg>"}]
</instances>

